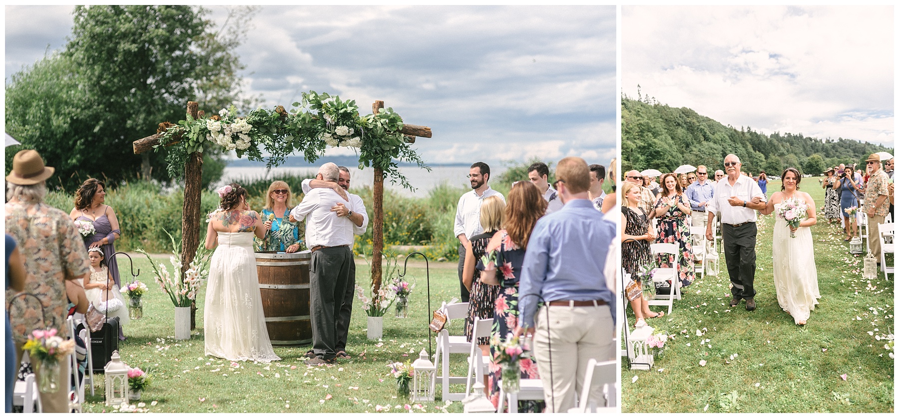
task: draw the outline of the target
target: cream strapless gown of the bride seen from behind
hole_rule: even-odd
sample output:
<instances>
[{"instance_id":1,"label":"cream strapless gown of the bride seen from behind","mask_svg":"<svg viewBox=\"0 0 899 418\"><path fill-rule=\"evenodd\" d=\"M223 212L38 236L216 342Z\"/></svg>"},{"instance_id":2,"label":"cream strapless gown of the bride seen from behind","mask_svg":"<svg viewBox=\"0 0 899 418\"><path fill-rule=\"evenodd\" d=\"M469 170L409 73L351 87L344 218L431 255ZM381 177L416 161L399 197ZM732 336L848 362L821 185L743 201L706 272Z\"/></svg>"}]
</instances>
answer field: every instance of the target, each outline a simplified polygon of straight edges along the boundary
<instances>
[{"instance_id":1,"label":"cream strapless gown of the bride seen from behind","mask_svg":"<svg viewBox=\"0 0 899 418\"><path fill-rule=\"evenodd\" d=\"M233 361L280 360L271 349L259 293L253 232L219 232L203 312L206 354Z\"/></svg>"}]
</instances>

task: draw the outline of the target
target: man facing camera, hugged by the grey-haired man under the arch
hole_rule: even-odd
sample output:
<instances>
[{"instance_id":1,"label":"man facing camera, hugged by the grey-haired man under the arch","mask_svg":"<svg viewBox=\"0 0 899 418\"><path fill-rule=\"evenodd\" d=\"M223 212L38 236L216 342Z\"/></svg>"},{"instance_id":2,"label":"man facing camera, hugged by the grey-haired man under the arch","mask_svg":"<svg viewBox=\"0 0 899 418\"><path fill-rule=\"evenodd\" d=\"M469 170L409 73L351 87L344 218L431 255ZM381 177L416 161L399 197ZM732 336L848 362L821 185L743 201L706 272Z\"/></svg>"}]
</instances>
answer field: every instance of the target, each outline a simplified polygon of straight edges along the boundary
<instances>
[{"instance_id":1,"label":"man facing camera, hugged by the grey-haired man under the arch","mask_svg":"<svg viewBox=\"0 0 899 418\"><path fill-rule=\"evenodd\" d=\"M365 210L365 204L362 198L349 192L350 190L350 169L343 165L337 167L340 170L337 182L326 182L318 178L307 179L303 181L303 193L308 194L312 189L332 189L348 200L347 204L338 201L332 212L336 212L338 217L346 217L352 220L352 233L361 236L365 234L366 228L369 226L369 215ZM352 238L352 236L351 236ZM350 277L346 283L346 290L343 291L343 303L340 308L340 316L337 316L337 358L350 360L350 355L346 353L346 336L350 332L350 317L352 316L352 298L356 288L356 261L350 259ZM340 303L340 301L338 301ZM306 357L312 358L315 352L307 351Z\"/></svg>"}]
</instances>

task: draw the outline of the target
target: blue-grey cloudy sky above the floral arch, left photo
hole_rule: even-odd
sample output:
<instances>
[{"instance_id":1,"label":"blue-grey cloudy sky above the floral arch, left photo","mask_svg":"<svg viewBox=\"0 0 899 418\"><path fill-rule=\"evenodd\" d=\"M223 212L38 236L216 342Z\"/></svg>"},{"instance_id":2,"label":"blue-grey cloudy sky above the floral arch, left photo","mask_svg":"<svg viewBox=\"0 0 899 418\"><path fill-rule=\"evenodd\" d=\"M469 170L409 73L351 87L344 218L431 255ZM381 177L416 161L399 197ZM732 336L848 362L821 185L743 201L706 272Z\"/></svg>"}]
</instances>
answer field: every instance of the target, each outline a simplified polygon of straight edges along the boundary
<instances>
[{"instance_id":1,"label":"blue-grey cloudy sky above the floral arch, left photo","mask_svg":"<svg viewBox=\"0 0 899 418\"><path fill-rule=\"evenodd\" d=\"M211 6L221 23L224 6ZM61 49L71 6L6 6L5 78ZM385 101L432 128L425 161L615 156L614 6L266 6L237 53L266 106ZM202 104L200 104L202 107ZM343 148L345 149L345 148Z\"/></svg>"}]
</instances>

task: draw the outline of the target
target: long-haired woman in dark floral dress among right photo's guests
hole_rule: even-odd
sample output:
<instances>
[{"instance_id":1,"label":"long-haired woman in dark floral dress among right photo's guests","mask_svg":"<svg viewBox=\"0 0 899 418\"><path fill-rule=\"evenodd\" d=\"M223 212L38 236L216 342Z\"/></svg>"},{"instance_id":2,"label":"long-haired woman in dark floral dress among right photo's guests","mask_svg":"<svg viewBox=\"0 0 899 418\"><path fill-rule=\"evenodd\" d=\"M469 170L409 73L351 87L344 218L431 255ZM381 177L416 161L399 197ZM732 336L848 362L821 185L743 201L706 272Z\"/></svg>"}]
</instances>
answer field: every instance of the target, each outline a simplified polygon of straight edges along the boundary
<instances>
[{"instance_id":1,"label":"long-haired woman in dark floral dress among right photo's guests","mask_svg":"<svg viewBox=\"0 0 899 418\"><path fill-rule=\"evenodd\" d=\"M690 204L683 195L681 185L678 184L674 174L664 174L662 184L662 194L659 195L659 200L656 200L654 209L655 218L659 218L659 237L655 242L678 243L681 246L677 273L681 280L681 288L684 288L690 286L695 279L690 227L686 222L687 216L690 215ZM674 262L674 256L659 254L657 260L660 268L670 269Z\"/></svg>"}]
</instances>

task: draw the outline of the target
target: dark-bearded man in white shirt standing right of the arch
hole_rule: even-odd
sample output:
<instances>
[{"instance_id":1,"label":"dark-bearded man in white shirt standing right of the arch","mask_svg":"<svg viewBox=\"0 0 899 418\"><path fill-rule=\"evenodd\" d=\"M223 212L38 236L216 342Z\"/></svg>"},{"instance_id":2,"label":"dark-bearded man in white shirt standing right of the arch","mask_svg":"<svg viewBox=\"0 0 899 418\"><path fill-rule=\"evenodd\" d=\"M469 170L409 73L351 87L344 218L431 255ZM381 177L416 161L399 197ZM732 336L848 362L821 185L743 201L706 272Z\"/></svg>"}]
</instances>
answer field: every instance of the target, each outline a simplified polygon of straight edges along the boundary
<instances>
[{"instance_id":1,"label":"dark-bearded man in white shirt standing right of the arch","mask_svg":"<svg viewBox=\"0 0 899 418\"><path fill-rule=\"evenodd\" d=\"M481 227L481 202L490 196L499 196L505 201L503 193L494 191L487 185L490 180L490 165L477 162L468 171L468 180L472 191L462 195L456 206L456 225L453 234L458 238L458 288L462 302L468 302L468 289L462 282L462 270L465 266L465 251L471 243L468 238L484 232Z\"/></svg>"}]
</instances>

